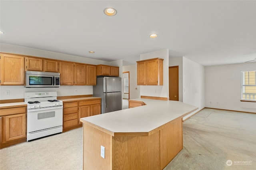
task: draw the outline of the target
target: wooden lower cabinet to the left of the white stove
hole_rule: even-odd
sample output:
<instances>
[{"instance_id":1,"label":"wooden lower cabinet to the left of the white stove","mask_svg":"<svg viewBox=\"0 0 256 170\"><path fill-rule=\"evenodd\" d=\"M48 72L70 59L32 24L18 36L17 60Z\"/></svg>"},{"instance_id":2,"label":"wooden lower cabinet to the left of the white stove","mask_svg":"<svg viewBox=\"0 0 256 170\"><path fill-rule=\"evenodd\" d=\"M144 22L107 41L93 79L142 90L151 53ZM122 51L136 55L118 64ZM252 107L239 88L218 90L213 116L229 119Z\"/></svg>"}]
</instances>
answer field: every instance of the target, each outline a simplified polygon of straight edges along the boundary
<instances>
[{"instance_id":1,"label":"wooden lower cabinet to the left of the white stove","mask_svg":"<svg viewBox=\"0 0 256 170\"><path fill-rule=\"evenodd\" d=\"M26 141L26 107L0 109L0 148ZM21 113L19 113L21 112ZM23 112L23 113L22 113ZM19 113L19 114L16 114Z\"/></svg>"}]
</instances>

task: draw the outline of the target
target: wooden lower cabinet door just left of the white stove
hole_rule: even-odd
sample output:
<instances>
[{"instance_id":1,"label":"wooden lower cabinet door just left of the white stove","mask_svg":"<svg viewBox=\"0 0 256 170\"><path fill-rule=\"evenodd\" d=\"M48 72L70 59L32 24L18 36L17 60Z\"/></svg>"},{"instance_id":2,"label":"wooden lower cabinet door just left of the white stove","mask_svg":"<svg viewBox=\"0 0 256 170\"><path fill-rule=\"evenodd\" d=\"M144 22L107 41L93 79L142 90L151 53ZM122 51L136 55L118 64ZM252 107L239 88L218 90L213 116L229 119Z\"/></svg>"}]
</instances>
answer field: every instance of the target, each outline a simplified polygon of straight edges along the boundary
<instances>
[{"instance_id":1,"label":"wooden lower cabinet door just left of the white stove","mask_svg":"<svg viewBox=\"0 0 256 170\"><path fill-rule=\"evenodd\" d=\"M6 116L6 141L26 137L26 113Z\"/></svg>"}]
</instances>

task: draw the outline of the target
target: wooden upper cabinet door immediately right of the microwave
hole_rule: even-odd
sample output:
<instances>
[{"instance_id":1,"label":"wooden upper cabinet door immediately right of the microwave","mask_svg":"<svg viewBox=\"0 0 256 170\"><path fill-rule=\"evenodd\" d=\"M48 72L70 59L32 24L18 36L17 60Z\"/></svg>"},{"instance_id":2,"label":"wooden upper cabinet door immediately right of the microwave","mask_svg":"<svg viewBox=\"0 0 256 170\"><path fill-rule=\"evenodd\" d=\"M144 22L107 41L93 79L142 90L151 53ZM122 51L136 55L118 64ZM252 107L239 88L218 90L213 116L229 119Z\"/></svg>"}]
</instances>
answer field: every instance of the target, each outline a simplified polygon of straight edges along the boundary
<instances>
[{"instance_id":1,"label":"wooden upper cabinet door immediately right of the microwave","mask_svg":"<svg viewBox=\"0 0 256 170\"><path fill-rule=\"evenodd\" d=\"M60 85L74 85L74 63L60 62Z\"/></svg>"}]
</instances>

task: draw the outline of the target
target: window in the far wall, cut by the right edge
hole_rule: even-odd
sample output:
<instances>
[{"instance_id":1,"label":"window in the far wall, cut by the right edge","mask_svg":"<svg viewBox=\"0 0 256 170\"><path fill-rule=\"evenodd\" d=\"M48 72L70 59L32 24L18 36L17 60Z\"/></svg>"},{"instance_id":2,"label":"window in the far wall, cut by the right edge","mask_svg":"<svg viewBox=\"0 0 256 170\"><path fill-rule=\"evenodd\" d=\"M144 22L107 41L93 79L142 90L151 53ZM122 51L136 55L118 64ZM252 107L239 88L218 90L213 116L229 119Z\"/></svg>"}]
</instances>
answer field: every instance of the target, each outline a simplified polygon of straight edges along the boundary
<instances>
[{"instance_id":1,"label":"window in the far wall, cut by the right edge","mask_svg":"<svg viewBox=\"0 0 256 170\"><path fill-rule=\"evenodd\" d=\"M256 101L256 71L242 71L242 100Z\"/></svg>"}]
</instances>

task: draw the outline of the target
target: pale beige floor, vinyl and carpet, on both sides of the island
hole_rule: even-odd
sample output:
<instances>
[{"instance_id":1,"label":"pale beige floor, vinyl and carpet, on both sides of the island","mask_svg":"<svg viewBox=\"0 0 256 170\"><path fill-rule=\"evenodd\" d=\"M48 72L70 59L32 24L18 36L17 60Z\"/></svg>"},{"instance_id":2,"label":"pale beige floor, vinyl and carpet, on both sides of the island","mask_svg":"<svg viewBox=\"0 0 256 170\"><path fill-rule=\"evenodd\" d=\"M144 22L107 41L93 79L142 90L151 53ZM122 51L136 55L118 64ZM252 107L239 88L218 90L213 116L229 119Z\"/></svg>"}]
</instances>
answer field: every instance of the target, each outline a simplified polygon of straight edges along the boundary
<instances>
[{"instance_id":1,"label":"pale beige floor, vinyl and carpet, on both sides of the island","mask_svg":"<svg viewBox=\"0 0 256 170\"><path fill-rule=\"evenodd\" d=\"M256 114L203 109L184 122L183 149L164 170L255 170L255 125ZM3 148L0 170L82 170L82 141L77 128Z\"/></svg>"}]
</instances>

